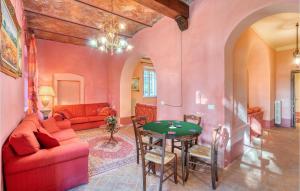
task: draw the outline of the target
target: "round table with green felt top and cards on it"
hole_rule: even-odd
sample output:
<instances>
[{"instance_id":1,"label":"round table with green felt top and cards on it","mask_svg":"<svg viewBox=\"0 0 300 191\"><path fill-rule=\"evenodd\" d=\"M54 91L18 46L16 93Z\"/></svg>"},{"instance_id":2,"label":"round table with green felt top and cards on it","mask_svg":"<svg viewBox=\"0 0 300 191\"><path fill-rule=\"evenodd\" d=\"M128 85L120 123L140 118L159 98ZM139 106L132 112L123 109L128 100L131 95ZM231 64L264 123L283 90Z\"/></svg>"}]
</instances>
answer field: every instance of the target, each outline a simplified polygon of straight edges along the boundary
<instances>
[{"instance_id":1,"label":"round table with green felt top and cards on it","mask_svg":"<svg viewBox=\"0 0 300 191\"><path fill-rule=\"evenodd\" d=\"M179 120L160 120L153 121L143 125L144 130L153 131L159 134L165 134L166 139L180 139L181 137L190 135L200 135L202 133L202 127L191 122L179 121ZM184 147L181 149L182 159L182 175L185 171L185 161L187 157L187 145L188 141L184 142ZM183 177L182 177L183 179ZM184 181L183 181L184 183Z\"/></svg>"}]
</instances>

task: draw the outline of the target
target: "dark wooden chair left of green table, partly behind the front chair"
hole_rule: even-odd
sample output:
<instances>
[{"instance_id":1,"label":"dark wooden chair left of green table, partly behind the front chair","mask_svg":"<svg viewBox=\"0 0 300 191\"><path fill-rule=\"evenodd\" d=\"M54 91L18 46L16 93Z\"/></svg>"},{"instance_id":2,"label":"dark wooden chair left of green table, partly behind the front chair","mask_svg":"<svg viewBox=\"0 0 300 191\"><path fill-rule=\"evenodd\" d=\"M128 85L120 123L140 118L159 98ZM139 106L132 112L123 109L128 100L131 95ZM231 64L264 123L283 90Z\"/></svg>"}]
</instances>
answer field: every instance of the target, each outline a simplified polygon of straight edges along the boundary
<instances>
[{"instance_id":1,"label":"dark wooden chair left of green table, partly behind the front chair","mask_svg":"<svg viewBox=\"0 0 300 191\"><path fill-rule=\"evenodd\" d=\"M139 164L140 162L140 144L139 144L139 139L137 137L137 129L140 129L147 123L147 117L145 116L131 116L131 121L133 124L133 129L134 129L134 137L135 137L135 145L136 145L136 163Z\"/></svg>"}]
</instances>

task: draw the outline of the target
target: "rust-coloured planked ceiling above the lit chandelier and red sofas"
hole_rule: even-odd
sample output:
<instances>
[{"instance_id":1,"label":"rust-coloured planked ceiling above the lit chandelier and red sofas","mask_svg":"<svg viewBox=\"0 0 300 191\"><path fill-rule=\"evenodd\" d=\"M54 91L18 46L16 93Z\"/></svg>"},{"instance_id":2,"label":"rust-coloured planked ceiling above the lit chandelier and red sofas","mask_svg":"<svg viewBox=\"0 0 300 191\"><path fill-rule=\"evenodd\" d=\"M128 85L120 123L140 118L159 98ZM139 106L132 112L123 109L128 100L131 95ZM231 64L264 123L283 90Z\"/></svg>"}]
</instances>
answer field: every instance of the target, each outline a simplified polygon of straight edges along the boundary
<instances>
[{"instance_id":1,"label":"rust-coloured planked ceiling above the lit chandelier and red sofas","mask_svg":"<svg viewBox=\"0 0 300 191\"><path fill-rule=\"evenodd\" d=\"M113 4L113 14L126 24L119 35L126 38L162 17L133 0L114 0ZM76 45L100 36L101 23L112 15L110 0L24 0L24 7L27 26L37 38Z\"/></svg>"}]
</instances>

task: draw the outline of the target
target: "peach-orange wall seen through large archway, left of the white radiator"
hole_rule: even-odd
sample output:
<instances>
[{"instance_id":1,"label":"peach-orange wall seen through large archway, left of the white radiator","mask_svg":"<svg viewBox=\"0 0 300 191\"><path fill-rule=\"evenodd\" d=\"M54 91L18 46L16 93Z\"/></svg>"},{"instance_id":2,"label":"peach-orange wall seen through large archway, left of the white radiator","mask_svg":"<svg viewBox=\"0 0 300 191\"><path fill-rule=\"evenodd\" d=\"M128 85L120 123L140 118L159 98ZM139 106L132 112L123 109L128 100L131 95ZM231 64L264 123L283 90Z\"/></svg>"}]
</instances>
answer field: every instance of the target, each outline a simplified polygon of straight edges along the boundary
<instances>
[{"instance_id":1,"label":"peach-orange wall seen through large archway, left of the white radiator","mask_svg":"<svg viewBox=\"0 0 300 191\"><path fill-rule=\"evenodd\" d=\"M252 29L238 39L234 51L235 64L245 65L248 74L249 107L261 107L264 120L274 119L275 51ZM247 92L245 92L247 93Z\"/></svg>"}]
</instances>

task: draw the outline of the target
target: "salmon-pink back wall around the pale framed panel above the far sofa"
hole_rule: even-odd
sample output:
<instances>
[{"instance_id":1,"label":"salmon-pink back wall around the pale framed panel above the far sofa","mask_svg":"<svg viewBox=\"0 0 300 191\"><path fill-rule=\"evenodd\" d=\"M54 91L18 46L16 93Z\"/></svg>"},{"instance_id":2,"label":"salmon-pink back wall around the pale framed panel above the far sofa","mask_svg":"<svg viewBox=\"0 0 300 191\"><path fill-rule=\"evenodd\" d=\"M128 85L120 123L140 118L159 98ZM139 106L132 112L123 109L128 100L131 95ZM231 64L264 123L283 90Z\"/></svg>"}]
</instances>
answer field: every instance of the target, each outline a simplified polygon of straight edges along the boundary
<instances>
[{"instance_id":1,"label":"salmon-pink back wall around the pale framed panel above the far sofa","mask_svg":"<svg viewBox=\"0 0 300 191\"><path fill-rule=\"evenodd\" d=\"M54 73L81 75L85 103L107 102L108 56L99 51L54 41L37 41L39 85L51 85Z\"/></svg>"}]
</instances>

